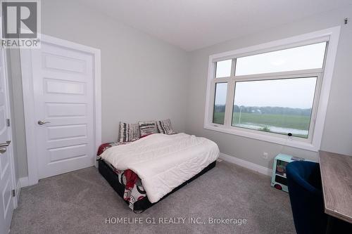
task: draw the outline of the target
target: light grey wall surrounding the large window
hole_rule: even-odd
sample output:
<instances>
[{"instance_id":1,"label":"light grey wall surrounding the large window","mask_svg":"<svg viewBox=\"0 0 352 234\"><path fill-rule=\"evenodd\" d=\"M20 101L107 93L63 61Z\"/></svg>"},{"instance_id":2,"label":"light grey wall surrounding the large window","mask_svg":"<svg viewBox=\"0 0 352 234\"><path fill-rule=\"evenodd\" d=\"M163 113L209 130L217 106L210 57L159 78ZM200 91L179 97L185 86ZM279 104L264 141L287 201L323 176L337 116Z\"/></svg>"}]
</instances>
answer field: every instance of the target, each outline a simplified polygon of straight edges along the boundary
<instances>
[{"instance_id":1,"label":"light grey wall surrounding the large window","mask_svg":"<svg viewBox=\"0 0 352 234\"><path fill-rule=\"evenodd\" d=\"M306 20L282 25L282 27L265 30L249 35L248 37L233 39L225 43L193 51L191 53L191 71L189 77L188 99L191 101L188 102L187 107L187 133L210 138L218 143L220 152L259 164L263 167L272 168L273 157L281 151L289 155L316 160L316 152L282 147L282 145L275 143L267 143L251 138L203 129L208 58L214 53L231 51L237 48L244 48L341 25L339 48L321 149L352 155L352 22L349 25L343 25L344 18L346 17L352 19L352 7L316 15ZM263 152L269 153L269 160L263 160L261 157Z\"/></svg>"}]
</instances>

